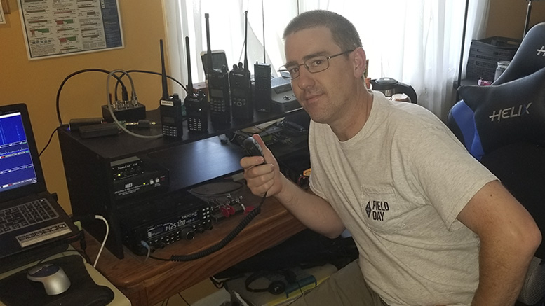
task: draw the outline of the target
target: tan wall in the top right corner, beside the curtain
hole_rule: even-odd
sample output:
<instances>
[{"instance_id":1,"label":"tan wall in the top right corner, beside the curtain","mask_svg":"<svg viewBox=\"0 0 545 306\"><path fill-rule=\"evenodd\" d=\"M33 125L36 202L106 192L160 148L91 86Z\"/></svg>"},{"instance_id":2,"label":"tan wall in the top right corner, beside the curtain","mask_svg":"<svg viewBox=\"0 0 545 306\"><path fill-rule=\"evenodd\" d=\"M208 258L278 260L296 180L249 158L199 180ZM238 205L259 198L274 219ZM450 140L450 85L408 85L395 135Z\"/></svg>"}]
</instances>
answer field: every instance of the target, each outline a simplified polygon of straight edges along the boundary
<instances>
[{"instance_id":1,"label":"tan wall in the top right corner, beside the curtain","mask_svg":"<svg viewBox=\"0 0 545 306\"><path fill-rule=\"evenodd\" d=\"M527 7L528 1L490 0L486 37L504 36L522 39ZM545 22L545 1L532 2L530 27L539 22Z\"/></svg>"}]
</instances>

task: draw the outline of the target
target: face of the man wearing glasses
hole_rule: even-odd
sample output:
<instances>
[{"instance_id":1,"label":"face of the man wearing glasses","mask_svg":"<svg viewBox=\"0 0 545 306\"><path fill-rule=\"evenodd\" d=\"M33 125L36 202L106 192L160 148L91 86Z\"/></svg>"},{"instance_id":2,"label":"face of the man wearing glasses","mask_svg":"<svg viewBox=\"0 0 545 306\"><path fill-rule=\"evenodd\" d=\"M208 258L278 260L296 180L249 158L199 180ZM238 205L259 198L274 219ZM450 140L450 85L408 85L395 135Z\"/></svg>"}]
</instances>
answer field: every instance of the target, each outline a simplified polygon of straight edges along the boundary
<instances>
[{"instance_id":1,"label":"face of the man wearing glasses","mask_svg":"<svg viewBox=\"0 0 545 306\"><path fill-rule=\"evenodd\" d=\"M333 41L327 27L303 29L285 38L287 64L302 64L316 55L330 56L344 51ZM331 124L341 118L343 106L351 95L349 84L354 83L350 59L346 55L333 57L329 68L316 74L301 66L299 77L291 81L297 100L312 120Z\"/></svg>"}]
</instances>

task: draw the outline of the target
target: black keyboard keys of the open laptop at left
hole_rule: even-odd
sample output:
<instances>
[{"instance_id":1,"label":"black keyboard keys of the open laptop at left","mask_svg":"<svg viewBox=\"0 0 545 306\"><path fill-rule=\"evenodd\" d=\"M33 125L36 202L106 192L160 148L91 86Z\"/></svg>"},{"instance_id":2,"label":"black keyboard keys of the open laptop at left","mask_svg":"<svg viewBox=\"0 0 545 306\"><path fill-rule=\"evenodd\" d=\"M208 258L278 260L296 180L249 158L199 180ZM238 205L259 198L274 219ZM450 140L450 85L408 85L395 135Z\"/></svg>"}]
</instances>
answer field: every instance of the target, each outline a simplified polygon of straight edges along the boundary
<instances>
[{"instance_id":1,"label":"black keyboard keys of the open laptop at left","mask_svg":"<svg viewBox=\"0 0 545 306\"><path fill-rule=\"evenodd\" d=\"M41 223L59 215L46 199L0 210L0 235Z\"/></svg>"}]
</instances>

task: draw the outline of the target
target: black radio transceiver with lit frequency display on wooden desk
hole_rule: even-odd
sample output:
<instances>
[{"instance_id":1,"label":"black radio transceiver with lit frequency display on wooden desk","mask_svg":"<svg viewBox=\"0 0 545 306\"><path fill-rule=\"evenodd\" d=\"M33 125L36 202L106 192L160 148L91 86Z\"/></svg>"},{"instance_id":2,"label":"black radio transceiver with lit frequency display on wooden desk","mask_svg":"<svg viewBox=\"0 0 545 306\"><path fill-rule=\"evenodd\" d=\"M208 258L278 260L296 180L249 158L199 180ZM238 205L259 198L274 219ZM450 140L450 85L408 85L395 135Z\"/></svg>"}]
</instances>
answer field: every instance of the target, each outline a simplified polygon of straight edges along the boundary
<instances>
[{"instance_id":1,"label":"black radio transceiver with lit frequency display on wooden desk","mask_svg":"<svg viewBox=\"0 0 545 306\"><path fill-rule=\"evenodd\" d=\"M147 209L133 211L132 218L121 221L124 243L137 255L147 253L142 242L155 251L182 239L191 240L196 234L213 228L208 202L187 192L181 197L162 197L143 207Z\"/></svg>"}]
</instances>

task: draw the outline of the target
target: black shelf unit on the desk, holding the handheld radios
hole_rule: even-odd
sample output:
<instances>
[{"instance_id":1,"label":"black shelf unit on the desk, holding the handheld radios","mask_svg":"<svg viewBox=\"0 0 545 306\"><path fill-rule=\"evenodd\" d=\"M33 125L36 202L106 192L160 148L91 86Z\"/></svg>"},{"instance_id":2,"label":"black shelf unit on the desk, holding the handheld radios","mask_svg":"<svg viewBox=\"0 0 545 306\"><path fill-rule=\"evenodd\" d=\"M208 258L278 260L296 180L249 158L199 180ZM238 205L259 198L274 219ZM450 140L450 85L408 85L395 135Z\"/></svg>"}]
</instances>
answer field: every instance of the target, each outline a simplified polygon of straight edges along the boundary
<instances>
[{"instance_id":1,"label":"black shelf unit on the desk, holding the handheld radios","mask_svg":"<svg viewBox=\"0 0 545 306\"><path fill-rule=\"evenodd\" d=\"M229 125L208 126L207 132L188 132L184 123L182 139L142 139L121 133L115 136L81 139L78 132L58 130L62 161L75 218L87 215L104 216L109 223L106 248L123 258L122 221L133 211L161 209L161 199L177 197L183 190L213 179L241 171L243 149L222 143L219 135L279 118L307 116L302 109L289 113L255 112L252 120L233 120ZM147 111L147 119L159 123L159 110ZM210 120L209 120L210 122ZM161 133L161 125L149 130L134 130L138 134ZM119 198L114 195L112 162L139 158L149 165L168 169L170 183L156 190ZM98 220L85 220L85 228L98 241L105 235L105 225Z\"/></svg>"}]
</instances>

